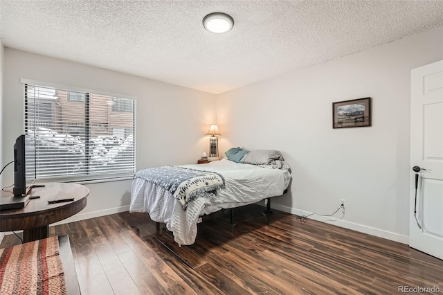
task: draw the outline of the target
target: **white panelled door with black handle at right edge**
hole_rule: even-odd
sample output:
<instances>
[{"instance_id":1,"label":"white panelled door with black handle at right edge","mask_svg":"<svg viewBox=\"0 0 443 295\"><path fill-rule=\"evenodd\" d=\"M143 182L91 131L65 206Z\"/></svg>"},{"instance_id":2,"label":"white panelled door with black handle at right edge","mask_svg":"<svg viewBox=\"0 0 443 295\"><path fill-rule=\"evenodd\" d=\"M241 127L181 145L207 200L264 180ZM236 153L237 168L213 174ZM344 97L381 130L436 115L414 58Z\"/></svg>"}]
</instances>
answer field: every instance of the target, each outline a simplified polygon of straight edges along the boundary
<instances>
[{"instance_id":1,"label":"white panelled door with black handle at right edge","mask_svg":"<svg viewBox=\"0 0 443 295\"><path fill-rule=\"evenodd\" d=\"M409 246L443 260L443 60L410 72L410 169Z\"/></svg>"}]
</instances>

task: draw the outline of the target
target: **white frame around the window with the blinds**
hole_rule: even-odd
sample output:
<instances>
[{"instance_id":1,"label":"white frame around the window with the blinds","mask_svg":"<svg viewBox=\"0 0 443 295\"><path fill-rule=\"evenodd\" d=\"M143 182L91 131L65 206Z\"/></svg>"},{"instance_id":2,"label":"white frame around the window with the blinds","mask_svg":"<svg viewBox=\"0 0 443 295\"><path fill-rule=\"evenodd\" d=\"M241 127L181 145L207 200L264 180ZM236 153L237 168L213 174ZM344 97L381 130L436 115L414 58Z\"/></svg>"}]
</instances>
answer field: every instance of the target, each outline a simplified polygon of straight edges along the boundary
<instances>
[{"instance_id":1,"label":"white frame around the window with the blinds","mask_svg":"<svg viewBox=\"0 0 443 295\"><path fill-rule=\"evenodd\" d=\"M62 177L37 177L35 179L35 175L33 175L34 178L30 178L29 175L26 175L26 179L27 181L36 181L38 182L43 182L43 181L60 181L60 182L80 182L80 183L84 183L84 184L91 184L91 183L99 183L99 182L108 182L108 181L120 181L120 180L127 180L127 179L133 179L135 172L136 172L136 97L135 96L129 96L127 94L120 94L120 93L109 93L107 91L99 91L99 90L95 90L95 89L82 89L79 87L71 87L71 86L67 86L67 85L62 85L62 84L55 84L55 83L51 83L51 82L42 82L42 81L37 81L37 80L29 80L29 79L20 79L20 82L22 84L24 84L24 100L26 101L28 98L26 98L26 85L33 85L36 87L47 87L47 88L52 88L52 89L56 89L56 90L63 90L63 91L67 91L69 92L78 92L78 93L85 93L85 101L72 101L69 100L69 94L66 94L66 101L68 102L81 102L85 104L85 110L89 107L89 105L91 104L91 100L89 99L91 97L90 94L92 95L98 95L98 96L109 96L111 98L114 97L119 97L119 98L125 98L125 99L131 99L133 100L133 109L132 109L132 122L133 122L133 127L132 129L134 130L133 132L133 149L134 149L134 154L133 154L133 159L131 159L132 161L134 161L134 171L131 173L115 173L115 174L107 174L107 173L91 173L91 170L87 170L87 175L82 175L82 176L78 176L78 177L70 177L69 175L63 175ZM26 110L26 105L24 108L24 115L27 114L27 110ZM109 110L109 114L111 113L111 110ZM127 112L130 113L130 112ZM85 121L89 120L86 115L87 111L85 111ZM26 118L24 118L24 132L26 132L27 127L26 127ZM88 124L88 123L87 123ZM65 127L70 127L70 125L64 125ZM111 127L109 127L111 128ZM87 129L87 132L89 132L88 127L86 127L85 129ZM91 140L92 137L88 136L89 141L85 141L85 145L92 145L93 141ZM87 154L87 150L85 150L85 154ZM89 154L88 158L87 158L87 166L91 165L91 154Z\"/></svg>"}]
</instances>

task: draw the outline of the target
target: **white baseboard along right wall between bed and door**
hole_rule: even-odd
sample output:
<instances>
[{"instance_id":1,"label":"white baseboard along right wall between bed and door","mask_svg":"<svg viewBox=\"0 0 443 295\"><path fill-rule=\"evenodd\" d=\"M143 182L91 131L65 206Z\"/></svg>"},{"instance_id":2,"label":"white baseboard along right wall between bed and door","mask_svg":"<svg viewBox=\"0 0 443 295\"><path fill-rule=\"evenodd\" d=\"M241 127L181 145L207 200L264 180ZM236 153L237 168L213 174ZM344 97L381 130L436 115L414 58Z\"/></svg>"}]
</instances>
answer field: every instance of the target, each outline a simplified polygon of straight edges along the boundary
<instances>
[{"instance_id":1,"label":"white baseboard along right wall between bed and door","mask_svg":"<svg viewBox=\"0 0 443 295\"><path fill-rule=\"evenodd\" d=\"M291 208L288 206L282 206L279 204L273 204L271 202L271 208L293 215L309 215L311 212L303 211L296 208ZM312 220L317 220L319 222L325 222L327 224L333 224L336 226L343 227L345 229L352 229L353 231L359 231L360 233L367 233L368 235L375 235L376 237L392 240L402 244L409 244L409 237L407 235L400 235L398 233L392 233L391 231L384 231L383 229L376 229L371 226L365 226L363 224L356 224L354 222L348 222L346 220L340 220L334 217L325 217L318 215L309 216Z\"/></svg>"}]
</instances>

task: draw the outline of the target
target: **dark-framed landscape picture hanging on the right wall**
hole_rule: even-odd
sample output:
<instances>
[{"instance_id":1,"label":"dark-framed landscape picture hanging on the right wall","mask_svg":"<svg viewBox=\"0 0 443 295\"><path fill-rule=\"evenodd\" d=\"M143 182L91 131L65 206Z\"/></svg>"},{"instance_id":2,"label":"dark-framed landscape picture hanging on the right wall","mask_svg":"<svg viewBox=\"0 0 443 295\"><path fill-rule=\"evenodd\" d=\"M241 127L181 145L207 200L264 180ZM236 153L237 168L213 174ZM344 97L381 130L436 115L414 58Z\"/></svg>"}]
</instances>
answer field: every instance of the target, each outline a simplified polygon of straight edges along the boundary
<instances>
[{"instance_id":1,"label":"dark-framed landscape picture hanging on the right wall","mask_svg":"<svg viewBox=\"0 0 443 295\"><path fill-rule=\"evenodd\" d=\"M332 128L372 125L371 98L332 102Z\"/></svg>"}]
</instances>

